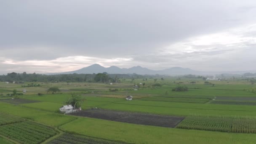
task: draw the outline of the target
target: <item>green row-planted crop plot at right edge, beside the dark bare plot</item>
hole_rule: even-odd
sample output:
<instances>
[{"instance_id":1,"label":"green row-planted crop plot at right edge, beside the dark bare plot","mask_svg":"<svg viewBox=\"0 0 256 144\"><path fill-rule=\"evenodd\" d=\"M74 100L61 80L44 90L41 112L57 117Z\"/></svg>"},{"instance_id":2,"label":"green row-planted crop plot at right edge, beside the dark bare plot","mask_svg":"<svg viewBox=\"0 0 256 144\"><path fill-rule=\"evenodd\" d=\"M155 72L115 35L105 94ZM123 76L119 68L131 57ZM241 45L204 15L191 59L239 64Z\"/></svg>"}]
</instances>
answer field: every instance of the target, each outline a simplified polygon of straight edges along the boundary
<instances>
[{"instance_id":1,"label":"green row-planted crop plot at right edge, beside the dark bare plot","mask_svg":"<svg viewBox=\"0 0 256 144\"><path fill-rule=\"evenodd\" d=\"M256 118L191 115L177 128L234 133L256 133Z\"/></svg>"}]
</instances>

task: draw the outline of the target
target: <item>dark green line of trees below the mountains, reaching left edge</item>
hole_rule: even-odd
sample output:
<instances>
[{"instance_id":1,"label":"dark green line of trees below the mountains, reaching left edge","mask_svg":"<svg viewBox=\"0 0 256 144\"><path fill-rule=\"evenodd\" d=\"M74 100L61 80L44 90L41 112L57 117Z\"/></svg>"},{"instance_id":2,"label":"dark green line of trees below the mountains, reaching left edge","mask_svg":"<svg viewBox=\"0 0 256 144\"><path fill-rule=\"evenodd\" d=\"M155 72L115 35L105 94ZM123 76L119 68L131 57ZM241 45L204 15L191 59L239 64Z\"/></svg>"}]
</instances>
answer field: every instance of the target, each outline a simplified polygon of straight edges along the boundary
<instances>
[{"instance_id":1,"label":"dark green line of trees below the mountains, reaching left edge","mask_svg":"<svg viewBox=\"0 0 256 144\"><path fill-rule=\"evenodd\" d=\"M7 75L0 75L1 82L16 82L16 83L24 83L24 82L101 82L101 83L120 83L121 80L125 79L147 79L151 77L155 77L155 75L137 75L133 74L107 74L107 72L98 73L98 74L61 74L61 75L43 75L43 74L27 74L11 72Z\"/></svg>"}]
</instances>

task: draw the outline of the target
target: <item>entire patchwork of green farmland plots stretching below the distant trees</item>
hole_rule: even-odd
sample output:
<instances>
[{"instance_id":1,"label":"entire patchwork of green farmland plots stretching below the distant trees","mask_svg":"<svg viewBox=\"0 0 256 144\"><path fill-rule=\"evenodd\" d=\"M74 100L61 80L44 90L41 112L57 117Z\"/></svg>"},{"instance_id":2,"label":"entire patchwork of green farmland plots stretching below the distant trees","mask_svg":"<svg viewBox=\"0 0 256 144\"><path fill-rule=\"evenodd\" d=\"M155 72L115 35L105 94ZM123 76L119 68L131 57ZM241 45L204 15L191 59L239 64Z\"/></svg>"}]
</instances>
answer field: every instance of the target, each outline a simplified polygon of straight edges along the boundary
<instances>
[{"instance_id":1,"label":"entire patchwork of green farmland plots stretching below the distant trees","mask_svg":"<svg viewBox=\"0 0 256 144\"><path fill-rule=\"evenodd\" d=\"M27 93L16 99L9 95L14 88L22 91L21 84L0 83L0 142L253 144L256 141L256 93L247 91L254 85L246 80L216 81L214 86L205 85L203 80L193 84L191 81L166 78L156 88L151 86L154 80L148 79L138 91L133 90L133 85L141 83L140 79L133 83L126 79L113 85L40 83L40 87L26 88ZM187 85L189 91L171 91L177 83ZM46 90L52 86L61 91L47 94ZM63 115L58 112L59 107L71 93L81 96L83 110ZM126 101L125 97L130 95L134 99Z\"/></svg>"}]
</instances>

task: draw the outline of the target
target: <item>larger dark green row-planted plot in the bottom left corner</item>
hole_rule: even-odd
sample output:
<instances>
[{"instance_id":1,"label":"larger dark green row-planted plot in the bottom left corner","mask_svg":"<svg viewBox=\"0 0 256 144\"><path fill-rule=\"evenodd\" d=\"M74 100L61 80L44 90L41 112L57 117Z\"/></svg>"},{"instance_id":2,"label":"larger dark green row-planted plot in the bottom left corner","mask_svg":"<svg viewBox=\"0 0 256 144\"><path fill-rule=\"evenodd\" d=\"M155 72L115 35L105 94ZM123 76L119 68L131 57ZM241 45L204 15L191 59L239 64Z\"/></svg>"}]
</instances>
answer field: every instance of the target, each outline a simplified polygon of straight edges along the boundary
<instances>
[{"instance_id":1,"label":"larger dark green row-planted plot in the bottom left corner","mask_svg":"<svg viewBox=\"0 0 256 144\"><path fill-rule=\"evenodd\" d=\"M43 129L45 127L45 129ZM0 126L0 134L21 144L38 144L56 134L53 128L31 121Z\"/></svg>"}]
</instances>

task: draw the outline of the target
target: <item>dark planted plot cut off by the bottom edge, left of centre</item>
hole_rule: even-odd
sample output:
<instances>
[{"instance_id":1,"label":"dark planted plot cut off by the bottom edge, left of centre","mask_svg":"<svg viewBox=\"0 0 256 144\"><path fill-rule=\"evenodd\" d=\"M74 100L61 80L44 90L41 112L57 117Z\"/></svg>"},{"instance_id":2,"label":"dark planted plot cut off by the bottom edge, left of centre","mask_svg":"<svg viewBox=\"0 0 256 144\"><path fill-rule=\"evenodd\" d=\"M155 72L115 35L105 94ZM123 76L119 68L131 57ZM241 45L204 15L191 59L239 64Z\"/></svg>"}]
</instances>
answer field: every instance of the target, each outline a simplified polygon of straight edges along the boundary
<instances>
[{"instance_id":1,"label":"dark planted plot cut off by the bottom edge, left of centre","mask_svg":"<svg viewBox=\"0 0 256 144\"><path fill-rule=\"evenodd\" d=\"M114 141L107 141L103 139L96 139L86 136L78 136L73 134L64 134L49 144L119 144Z\"/></svg>"}]
</instances>

